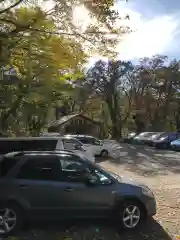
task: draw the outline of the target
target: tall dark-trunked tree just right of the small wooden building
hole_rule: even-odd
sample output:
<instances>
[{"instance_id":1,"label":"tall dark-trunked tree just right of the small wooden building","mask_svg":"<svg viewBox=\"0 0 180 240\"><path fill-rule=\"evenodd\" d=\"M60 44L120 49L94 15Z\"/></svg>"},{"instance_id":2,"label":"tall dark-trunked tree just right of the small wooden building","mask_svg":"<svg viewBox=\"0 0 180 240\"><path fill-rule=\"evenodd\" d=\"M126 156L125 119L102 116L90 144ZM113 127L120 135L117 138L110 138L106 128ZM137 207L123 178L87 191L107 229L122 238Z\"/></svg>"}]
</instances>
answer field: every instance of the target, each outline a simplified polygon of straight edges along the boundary
<instances>
[{"instance_id":1,"label":"tall dark-trunked tree just right of the small wooden building","mask_svg":"<svg viewBox=\"0 0 180 240\"><path fill-rule=\"evenodd\" d=\"M131 70L130 62L100 60L87 72L87 85L107 103L113 138L121 137L121 130L127 118L122 118L121 100L128 95L126 74Z\"/></svg>"}]
</instances>

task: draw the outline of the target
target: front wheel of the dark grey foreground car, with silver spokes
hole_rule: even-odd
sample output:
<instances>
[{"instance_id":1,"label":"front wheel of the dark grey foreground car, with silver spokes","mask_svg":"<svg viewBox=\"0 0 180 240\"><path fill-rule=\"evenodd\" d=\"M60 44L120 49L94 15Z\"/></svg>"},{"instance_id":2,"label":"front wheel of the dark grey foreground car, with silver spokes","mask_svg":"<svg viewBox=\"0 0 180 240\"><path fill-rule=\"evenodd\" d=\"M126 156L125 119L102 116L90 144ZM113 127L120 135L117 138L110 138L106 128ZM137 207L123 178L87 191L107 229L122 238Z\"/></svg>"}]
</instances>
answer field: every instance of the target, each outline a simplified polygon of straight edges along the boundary
<instances>
[{"instance_id":1,"label":"front wheel of the dark grey foreground car, with silver spokes","mask_svg":"<svg viewBox=\"0 0 180 240\"><path fill-rule=\"evenodd\" d=\"M145 219L146 211L143 204L137 200L125 200L120 203L116 211L116 224L118 229L138 229Z\"/></svg>"}]
</instances>

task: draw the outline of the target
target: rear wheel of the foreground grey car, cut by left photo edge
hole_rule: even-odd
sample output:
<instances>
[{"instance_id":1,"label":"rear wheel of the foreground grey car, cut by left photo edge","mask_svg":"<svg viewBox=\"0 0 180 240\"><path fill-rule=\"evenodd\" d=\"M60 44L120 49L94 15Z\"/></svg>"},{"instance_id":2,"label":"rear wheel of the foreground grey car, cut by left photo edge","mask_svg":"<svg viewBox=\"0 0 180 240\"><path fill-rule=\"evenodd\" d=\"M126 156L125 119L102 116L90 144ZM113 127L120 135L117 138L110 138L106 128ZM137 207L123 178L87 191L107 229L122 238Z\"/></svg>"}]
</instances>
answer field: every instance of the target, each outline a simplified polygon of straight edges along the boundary
<instances>
[{"instance_id":1,"label":"rear wheel of the foreground grey car, cut by left photo edge","mask_svg":"<svg viewBox=\"0 0 180 240\"><path fill-rule=\"evenodd\" d=\"M23 226L23 210L17 204L0 206L0 222L0 236L16 235ZM7 230L7 226L9 230Z\"/></svg>"}]
</instances>

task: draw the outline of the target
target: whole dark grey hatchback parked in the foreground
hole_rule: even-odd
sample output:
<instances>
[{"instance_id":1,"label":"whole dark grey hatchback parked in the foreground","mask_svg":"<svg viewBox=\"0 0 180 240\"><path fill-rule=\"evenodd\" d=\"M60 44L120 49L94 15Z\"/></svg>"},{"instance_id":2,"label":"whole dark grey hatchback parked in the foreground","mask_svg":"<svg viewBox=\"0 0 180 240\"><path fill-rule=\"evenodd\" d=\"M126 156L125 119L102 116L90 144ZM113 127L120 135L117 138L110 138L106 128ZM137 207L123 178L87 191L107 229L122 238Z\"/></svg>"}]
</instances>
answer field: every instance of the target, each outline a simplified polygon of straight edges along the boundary
<instances>
[{"instance_id":1,"label":"whole dark grey hatchback parked in the foreground","mask_svg":"<svg viewBox=\"0 0 180 240\"><path fill-rule=\"evenodd\" d=\"M26 219L112 218L134 229L156 214L152 191L68 151L17 152L0 162L0 233Z\"/></svg>"}]
</instances>

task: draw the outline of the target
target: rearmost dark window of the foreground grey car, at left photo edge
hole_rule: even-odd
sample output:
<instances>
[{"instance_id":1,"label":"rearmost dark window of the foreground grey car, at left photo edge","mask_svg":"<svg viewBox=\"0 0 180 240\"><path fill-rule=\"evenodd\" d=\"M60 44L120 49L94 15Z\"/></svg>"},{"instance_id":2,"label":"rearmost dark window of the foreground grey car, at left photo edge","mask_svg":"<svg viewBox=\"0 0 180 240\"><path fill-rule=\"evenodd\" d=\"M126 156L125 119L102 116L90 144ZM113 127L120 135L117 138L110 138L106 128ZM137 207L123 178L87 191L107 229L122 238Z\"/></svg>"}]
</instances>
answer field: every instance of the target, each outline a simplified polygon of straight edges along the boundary
<instances>
[{"instance_id":1,"label":"rearmost dark window of the foreground grey car, at left photo edge","mask_svg":"<svg viewBox=\"0 0 180 240\"><path fill-rule=\"evenodd\" d=\"M16 165L19 158L3 157L0 161L0 177L4 177Z\"/></svg>"}]
</instances>

